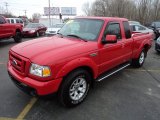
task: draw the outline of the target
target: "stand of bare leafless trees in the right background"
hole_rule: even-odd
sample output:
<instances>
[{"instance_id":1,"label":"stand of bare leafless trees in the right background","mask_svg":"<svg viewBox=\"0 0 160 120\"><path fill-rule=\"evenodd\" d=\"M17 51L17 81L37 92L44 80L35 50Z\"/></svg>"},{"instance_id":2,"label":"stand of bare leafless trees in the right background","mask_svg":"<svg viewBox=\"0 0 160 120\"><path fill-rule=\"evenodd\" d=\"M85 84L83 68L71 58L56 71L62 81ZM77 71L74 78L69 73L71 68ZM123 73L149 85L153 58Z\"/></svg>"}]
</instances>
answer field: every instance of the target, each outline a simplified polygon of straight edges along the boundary
<instances>
[{"instance_id":1,"label":"stand of bare leafless trees in the right background","mask_svg":"<svg viewBox=\"0 0 160 120\"><path fill-rule=\"evenodd\" d=\"M85 8L88 16L125 17L142 24L160 20L160 0L96 0Z\"/></svg>"}]
</instances>

